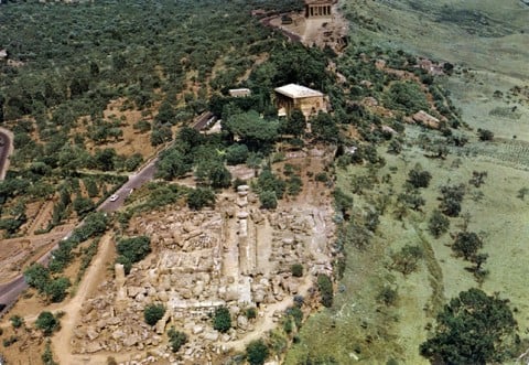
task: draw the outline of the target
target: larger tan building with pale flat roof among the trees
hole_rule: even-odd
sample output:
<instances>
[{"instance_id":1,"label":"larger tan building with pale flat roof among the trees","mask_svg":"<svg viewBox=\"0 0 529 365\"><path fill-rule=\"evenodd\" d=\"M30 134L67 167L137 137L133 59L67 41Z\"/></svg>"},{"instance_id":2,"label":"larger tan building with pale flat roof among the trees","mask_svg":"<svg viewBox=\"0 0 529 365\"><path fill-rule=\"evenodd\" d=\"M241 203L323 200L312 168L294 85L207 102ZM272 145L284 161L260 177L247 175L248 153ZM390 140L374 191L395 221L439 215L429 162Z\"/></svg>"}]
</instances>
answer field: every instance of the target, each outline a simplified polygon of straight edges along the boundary
<instances>
[{"instance_id":1,"label":"larger tan building with pale flat roof among the trees","mask_svg":"<svg viewBox=\"0 0 529 365\"><path fill-rule=\"evenodd\" d=\"M319 111L327 111L325 95L306 86L289 84L274 89L274 103L280 117L289 116L300 109L309 119Z\"/></svg>"}]
</instances>

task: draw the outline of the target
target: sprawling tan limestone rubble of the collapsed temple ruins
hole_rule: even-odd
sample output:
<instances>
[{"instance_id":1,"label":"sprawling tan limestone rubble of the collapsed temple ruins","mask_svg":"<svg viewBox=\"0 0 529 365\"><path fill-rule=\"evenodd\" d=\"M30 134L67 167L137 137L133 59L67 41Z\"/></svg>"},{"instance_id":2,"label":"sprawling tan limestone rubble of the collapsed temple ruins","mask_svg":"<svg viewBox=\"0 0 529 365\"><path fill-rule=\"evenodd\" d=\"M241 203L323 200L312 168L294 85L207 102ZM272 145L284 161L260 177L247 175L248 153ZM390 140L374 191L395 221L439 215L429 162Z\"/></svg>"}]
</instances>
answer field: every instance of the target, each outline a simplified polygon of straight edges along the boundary
<instances>
[{"instance_id":1,"label":"sprawling tan limestone rubble of the collapsed temple ruins","mask_svg":"<svg viewBox=\"0 0 529 365\"><path fill-rule=\"evenodd\" d=\"M190 340L179 358L207 364L259 328L266 316L276 315L277 321L280 314L270 313L268 307L291 305L294 294L306 294L315 275L332 270L332 214L313 205L261 211L256 201L244 185L237 194L220 195L215 211L180 208L134 218L127 234L150 236L153 254L127 277L116 264L114 280L102 282L99 294L83 305L74 351L148 350L150 356L139 364L155 358L173 362L165 333L174 326ZM292 276L293 264L303 265L304 277ZM150 303L166 308L153 328L143 320ZM225 334L213 329L210 319L220 305L233 319L233 329ZM258 315L249 320L244 310L252 307Z\"/></svg>"}]
</instances>

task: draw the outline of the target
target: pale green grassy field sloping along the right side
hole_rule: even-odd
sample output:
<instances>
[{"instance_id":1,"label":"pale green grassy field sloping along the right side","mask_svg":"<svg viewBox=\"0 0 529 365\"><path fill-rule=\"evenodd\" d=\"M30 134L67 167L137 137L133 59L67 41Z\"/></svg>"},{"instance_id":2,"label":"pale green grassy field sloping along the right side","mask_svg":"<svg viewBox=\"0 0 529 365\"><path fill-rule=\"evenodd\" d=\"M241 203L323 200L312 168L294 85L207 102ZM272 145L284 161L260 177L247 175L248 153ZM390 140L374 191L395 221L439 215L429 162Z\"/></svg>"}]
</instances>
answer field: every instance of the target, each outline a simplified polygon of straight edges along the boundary
<instances>
[{"instance_id":1,"label":"pale green grassy field sloping along the right side","mask_svg":"<svg viewBox=\"0 0 529 365\"><path fill-rule=\"evenodd\" d=\"M428 364L419 345L434 323L435 313L447 299L472 287L509 299L519 334L529 333L529 275L527 237L529 196L518 197L529 187L529 25L523 19L529 8L520 1L343 1L352 21L352 37L390 49L456 64L456 72L441 83L461 109L469 141L451 148L445 160L425 157L418 146L423 131L407 127L401 154L379 152L386 165L378 176L391 176L363 194L354 194L357 212L366 212L376 196L391 190L391 203L380 216L380 225L367 249L347 247L347 267L338 282L335 305L313 315L287 355L287 364ZM389 22L388 19L395 21ZM419 34L419 36L418 36ZM525 46L526 45L526 46ZM499 90L500 93L495 93ZM478 128L492 130L492 142L477 140ZM402 221L395 216L395 201L408 172L420 163L432 174L422 212L411 212ZM486 171L481 187L468 184L473 171ZM338 170L337 185L352 191L352 176L367 173L365 167ZM439 187L466 185L460 217L450 218L450 232L439 239L428 232L430 212L439 206ZM467 222L465 223L465 219ZM450 234L469 232L484 237L484 268L489 271L482 285L467 270L472 265L454 256ZM406 277L391 269L391 255L406 245L417 245L423 258L417 271ZM393 305L377 300L385 286L398 292ZM333 362L334 361L334 362ZM316 362L314 362L316 363Z\"/></svg>"}]
</instances>

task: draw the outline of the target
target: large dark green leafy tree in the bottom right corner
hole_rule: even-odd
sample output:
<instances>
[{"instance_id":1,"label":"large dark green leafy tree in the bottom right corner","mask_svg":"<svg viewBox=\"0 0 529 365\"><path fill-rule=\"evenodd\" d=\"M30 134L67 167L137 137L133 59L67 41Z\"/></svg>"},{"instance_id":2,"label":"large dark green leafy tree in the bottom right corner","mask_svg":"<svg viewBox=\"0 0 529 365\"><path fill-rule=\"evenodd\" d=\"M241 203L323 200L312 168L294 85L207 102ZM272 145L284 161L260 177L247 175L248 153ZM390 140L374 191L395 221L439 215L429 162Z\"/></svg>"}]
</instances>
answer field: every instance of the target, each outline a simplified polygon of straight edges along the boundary
<instances>
[{"instance_id":1,"label":"large dark green leafy tree in the bottom right corner","mask_svg":"<svg viewBox=\"0 0 529 365\"><path fill-rule=\"evenodd\" d=\"M507 300L473 288L444 305L420 352L436 364L503 363L514 356L516 329Z\"/></svg>"}]
</instances>

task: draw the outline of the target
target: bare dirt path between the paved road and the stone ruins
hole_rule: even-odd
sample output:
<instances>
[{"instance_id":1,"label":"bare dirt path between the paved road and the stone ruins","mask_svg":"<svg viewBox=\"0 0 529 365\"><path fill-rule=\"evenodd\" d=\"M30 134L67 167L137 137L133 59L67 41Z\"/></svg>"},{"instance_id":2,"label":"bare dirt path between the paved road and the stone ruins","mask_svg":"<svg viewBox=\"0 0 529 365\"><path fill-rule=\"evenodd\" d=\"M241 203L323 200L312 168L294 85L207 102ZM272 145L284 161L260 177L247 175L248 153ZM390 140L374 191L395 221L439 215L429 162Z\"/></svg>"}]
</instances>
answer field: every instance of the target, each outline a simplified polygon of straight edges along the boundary
<instances>
[{"instance_id":1,"label":"bare dirt path between the paved road and the stone ruins","mask_svg":"<svg viewBox=\"0 0 529 365\"><path fill-rule=\"evenodd\" d=\"M101 272L105 272L107 264L112 257L112 239L111 236L107 234L101 238L97 255L77 288L76 296L58 309L65 312L65 315L61 319L61 331L52 337L52 345L55 358L57 358L61 364L85 364L87 361L87 364L106 363L106 355L101 358L96 358L97 356L94 355L73 355L71 339L79 321L80 308L101 282Z\"/></svg>"}]
</instances>

